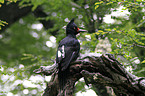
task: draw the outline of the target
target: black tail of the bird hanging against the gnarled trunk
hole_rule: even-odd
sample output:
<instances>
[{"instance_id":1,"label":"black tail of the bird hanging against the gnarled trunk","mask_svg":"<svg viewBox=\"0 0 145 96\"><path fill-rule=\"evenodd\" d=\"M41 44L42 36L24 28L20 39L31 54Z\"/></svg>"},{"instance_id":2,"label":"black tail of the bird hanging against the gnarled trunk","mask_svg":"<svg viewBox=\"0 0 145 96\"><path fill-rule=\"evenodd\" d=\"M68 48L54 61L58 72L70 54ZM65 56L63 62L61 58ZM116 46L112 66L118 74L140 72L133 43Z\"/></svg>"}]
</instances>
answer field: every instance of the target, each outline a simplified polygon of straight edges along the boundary
<instances>
[{"instance_id":1,"label":"black tail of the bird hanging against the gnarled trunk","mask_svg":"<svg viewBox=\"0 0 145 96\"><path fill-rule=\"evenodd\" d=\"M60 90L64 89L64 86L67 83L68 75L69 75L69 68L64 71L61 71L61 70L58 71L58 80L59 80Z\"/></svg>"}]
</instances>

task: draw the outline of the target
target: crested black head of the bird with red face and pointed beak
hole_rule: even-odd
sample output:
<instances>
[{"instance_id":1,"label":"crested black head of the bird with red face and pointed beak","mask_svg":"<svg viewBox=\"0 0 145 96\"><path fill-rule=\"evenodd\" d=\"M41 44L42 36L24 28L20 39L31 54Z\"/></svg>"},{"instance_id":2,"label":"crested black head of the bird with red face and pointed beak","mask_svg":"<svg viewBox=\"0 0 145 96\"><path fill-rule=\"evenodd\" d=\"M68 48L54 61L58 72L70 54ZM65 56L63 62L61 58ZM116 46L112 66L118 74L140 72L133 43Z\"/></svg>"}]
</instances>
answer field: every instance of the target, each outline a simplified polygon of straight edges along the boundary
<instances>
[{"instance_id":1,"label":"crested black head of the bird with red face and pointed beak","mask_svg":"<svg viewBox=\"0 0 145 96\"><path fill-rule=\"evenodd\" d=\"M74 18L66 26L66 34L77 35L78 33L84 32L84 31L86 30L82 30L77 27L77 25L74 23Z\"/></svg>"}]
</instances>

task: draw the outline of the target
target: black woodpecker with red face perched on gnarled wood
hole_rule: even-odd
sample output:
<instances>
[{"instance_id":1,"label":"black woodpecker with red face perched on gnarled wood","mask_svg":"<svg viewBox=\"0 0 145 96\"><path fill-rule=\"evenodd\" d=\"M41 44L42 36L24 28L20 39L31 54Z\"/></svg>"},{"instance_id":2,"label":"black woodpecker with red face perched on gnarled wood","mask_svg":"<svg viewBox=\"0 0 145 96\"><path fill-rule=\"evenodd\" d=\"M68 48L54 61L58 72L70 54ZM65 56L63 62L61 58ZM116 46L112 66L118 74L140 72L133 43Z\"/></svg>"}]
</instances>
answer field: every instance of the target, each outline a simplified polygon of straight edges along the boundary
<instances>
[{"instance_id":1,"label":"black woodpecker with red face perched on gnarled wood","mask_svg":"<svg viewBox=\"0 0 145 96\"><path fill-rule=\"evenodd\" d=\"M79 56L80 43L77 40L76 35L82 31L85 30L79 29L74 23L74 19L72 19L66 26L66 37L59 43L56 54L56 63L58 64L60 90L63 90L67 82L70 63L75 61Z\"/></svg>"}]
</instances>

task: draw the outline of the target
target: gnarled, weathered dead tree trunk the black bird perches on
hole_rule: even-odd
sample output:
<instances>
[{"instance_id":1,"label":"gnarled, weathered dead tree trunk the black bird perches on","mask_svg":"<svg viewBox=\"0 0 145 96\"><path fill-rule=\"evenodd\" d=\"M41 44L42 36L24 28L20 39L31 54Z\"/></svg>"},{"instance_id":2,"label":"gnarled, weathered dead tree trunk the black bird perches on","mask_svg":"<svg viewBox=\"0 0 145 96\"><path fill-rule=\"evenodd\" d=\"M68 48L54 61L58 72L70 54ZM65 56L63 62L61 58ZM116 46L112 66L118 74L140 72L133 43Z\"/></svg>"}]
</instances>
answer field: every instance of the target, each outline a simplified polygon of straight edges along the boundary
<instances>
[{"instance_id":1,"label":"gnarled, weathered dead tree trunk the black bird perches on","mask_svg":"<svg viewBox=\"0 0 145 96\"><path fill-rule=\"evenodd\" d=\"M112 87L117 96L145 96L145 78L127 72L113 55L82 55L71 63L67 84L59 91L57 65L41 66L34 72L52 75L43 96L73 96L75 82L84 77L86 84Z\"/></svg>"}]
</instances>

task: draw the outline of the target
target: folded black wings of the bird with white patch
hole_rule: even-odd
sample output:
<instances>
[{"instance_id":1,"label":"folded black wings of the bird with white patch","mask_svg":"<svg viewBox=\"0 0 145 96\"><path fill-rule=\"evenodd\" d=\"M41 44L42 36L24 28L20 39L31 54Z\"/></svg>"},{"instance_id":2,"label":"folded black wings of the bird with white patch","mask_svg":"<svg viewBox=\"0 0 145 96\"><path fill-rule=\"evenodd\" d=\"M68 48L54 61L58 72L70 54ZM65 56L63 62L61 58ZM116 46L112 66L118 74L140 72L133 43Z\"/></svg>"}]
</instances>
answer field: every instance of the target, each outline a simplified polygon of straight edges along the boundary
<instances>
[{"instance_id":1,"label":"folded black wings of the bird with white patch","mask_svg":"<svg viewBox=\"0 0 145 96\"><path fill-rule=\"evenodd\" d=\"M61 71L67 69L69 64L77 59L79 55L79 45L73 46L62 45L58 47L56 62L59 64Z\"/></svg>"}]
</instances>

